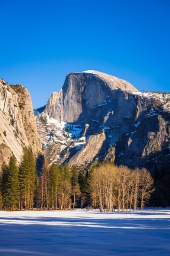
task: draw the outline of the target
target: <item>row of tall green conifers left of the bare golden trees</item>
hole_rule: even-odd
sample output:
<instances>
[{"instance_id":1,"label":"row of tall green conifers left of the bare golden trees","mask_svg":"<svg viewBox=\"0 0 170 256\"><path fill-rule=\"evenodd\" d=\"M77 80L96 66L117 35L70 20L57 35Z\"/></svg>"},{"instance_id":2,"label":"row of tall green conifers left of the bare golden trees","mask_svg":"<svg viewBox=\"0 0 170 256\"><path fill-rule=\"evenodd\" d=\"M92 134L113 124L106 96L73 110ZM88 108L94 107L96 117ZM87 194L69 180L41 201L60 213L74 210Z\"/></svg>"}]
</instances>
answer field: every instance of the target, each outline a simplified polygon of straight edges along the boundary
<instances>
[{"instance_id":1,"label":"row of tall green conifers left of the bare golden trees","mask_svg":"<svg viewBox=\"0 0 170 256\"><path fill-rule=\"evenodd\" d=\"M59 166L49 164L44 158L41 173L36 173L36 162L32 148L23 149L21 162L17 164L14 155L9 165L2 164L0 172L0 210L30 210L33 208L70 209L77 201L81 207L87 194L86 171L78 172L67 163Z\"/></svg>"}]
</instances>

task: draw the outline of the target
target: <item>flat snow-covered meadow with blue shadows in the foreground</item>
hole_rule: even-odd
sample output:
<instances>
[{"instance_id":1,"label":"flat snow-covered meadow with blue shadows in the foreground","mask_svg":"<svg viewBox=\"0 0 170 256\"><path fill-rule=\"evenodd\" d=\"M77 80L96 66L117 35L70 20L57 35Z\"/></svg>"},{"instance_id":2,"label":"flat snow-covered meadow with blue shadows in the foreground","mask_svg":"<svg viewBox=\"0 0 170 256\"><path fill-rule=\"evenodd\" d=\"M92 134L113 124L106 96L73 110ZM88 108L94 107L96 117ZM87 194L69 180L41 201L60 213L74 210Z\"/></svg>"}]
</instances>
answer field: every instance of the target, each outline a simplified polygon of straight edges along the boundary
<instances>
[{"instance_id":1,"label":"flat snow-covered meadow with blue shadows in the foreground","mask_svg":"<svg viewBox=\"0 0 170 256\"><path fill-rule=\"evenodd\" d=\"M170 210L0 212L0 255L170 255Z\"/></svg>"}]
</instances>

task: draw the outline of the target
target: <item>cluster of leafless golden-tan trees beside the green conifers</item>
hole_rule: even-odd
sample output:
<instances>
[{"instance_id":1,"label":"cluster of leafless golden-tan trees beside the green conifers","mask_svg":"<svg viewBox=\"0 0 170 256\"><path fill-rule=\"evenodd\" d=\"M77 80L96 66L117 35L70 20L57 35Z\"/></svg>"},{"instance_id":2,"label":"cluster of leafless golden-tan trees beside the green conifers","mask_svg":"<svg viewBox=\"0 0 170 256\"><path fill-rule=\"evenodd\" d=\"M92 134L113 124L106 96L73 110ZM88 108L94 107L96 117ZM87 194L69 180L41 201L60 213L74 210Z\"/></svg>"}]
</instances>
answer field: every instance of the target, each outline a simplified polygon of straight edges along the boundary
<instances>
[{"instance_id":1,"label":"cluster of leafless golden-tan trees beside the green conifers","mask_svg":"<svg viewBox=\"0 0 170 256\"><path fill-rule=\"evenodd\" d=\"M111 212L117 207L118 212L141 210L153 191L153 179L146 169L131 170L127 166L115 166L103 163L92 168L89 174L89 188L92 204L100 211Z\"/></svg>"}]
</instances>

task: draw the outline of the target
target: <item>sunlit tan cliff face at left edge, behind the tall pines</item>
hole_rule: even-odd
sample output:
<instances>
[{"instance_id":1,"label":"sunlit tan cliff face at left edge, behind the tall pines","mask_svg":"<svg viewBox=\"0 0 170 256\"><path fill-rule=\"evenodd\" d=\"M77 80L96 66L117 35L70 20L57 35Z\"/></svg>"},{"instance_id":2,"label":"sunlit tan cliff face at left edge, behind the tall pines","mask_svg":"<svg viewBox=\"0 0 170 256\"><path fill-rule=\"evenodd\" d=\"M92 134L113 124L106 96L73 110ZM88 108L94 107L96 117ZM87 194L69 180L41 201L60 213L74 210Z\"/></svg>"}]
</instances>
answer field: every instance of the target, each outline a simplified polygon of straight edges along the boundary
<instances>
[{"instance_id":1,"label":"sunlit tan cliff face at left edge, behind the tall pines","mask_svg":"<svg viewBox=\"0 0 170 256\"><path fill-rule=\"evenodd\" d=\"M32 101L26 88L9 86L0 79L0 165L13 154L20 160L22 147L32 145L35 155L41 143L33 115Z\"/></svg>"}]
</instances>

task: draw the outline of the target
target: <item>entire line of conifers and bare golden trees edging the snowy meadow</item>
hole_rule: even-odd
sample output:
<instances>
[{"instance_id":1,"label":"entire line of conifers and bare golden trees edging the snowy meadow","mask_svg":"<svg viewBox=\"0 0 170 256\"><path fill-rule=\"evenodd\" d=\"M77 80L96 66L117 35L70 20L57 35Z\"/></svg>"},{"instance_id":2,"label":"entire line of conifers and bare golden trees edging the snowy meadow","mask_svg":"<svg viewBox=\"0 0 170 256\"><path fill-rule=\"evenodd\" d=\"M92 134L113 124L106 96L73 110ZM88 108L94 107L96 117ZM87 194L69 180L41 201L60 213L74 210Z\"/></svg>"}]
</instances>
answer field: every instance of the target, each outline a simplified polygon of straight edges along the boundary
<instances>
[{"instance_id":1,"label":"entire line of conifers and bare golden trees edging the snowy meadow","mask_svg":"<svg viewBox=\"0 0 170 256\"><path fill-rule=\"evenodd\" d=\"M114 163L95 162L89 169L49 164L47 158L39 176L31 146L25 147L21 162L14 155L3 163L0 174L0 209L64 210L92 206L100 212L137 210L149 201L154 179L146 169L135 170Z\"/></svg>"}]
</instances>

